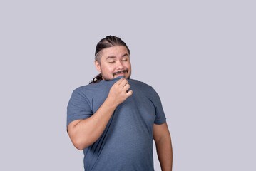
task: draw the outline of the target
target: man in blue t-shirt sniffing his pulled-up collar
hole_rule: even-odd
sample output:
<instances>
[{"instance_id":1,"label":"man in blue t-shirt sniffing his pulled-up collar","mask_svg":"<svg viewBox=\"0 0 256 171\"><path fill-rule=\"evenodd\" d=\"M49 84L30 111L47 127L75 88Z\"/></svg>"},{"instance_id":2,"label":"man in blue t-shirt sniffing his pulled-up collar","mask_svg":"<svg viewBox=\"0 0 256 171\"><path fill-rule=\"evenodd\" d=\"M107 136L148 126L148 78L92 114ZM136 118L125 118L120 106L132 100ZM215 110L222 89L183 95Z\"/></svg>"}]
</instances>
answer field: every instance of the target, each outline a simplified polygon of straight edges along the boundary
<instances>
[{"instance_id":1,"label":"man in blue t-shirt sniffing his pulled-up collar","mask_svg":"<svg viewBox=\"0 0 256 171\"><path fill-rule=\"evenodd\" d=\"M172 170L170 133L160 98L147 84L130 79L130 50L121 38L106 36L96 46L100 74L73 91L67 127L84 152L87 171L150 171L153 140L162 170Z\"/></svg>"}]
</instances>

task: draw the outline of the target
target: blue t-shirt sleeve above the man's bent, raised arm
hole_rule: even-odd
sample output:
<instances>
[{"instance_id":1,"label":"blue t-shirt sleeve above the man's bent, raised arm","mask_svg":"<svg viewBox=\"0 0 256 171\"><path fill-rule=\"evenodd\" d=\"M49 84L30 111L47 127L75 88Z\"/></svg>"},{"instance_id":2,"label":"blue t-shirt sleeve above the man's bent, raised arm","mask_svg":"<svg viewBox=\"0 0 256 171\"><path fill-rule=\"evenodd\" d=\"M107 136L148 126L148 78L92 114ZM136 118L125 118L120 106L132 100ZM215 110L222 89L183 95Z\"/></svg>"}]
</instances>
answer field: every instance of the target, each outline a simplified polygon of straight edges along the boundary
<instances>
[{"instance_id":1,"label":"blue t-shirt sleeve above the man's bent, raised arm","mask_svg":"<svg viewBox=\"0 0 256 171\"><path fill-rule=\"evenodd\" d=\"M89 100L80 89L73 91L67 107L67 126L73 120L89 118L93 115Z\"/></svg>"}]
</instances>

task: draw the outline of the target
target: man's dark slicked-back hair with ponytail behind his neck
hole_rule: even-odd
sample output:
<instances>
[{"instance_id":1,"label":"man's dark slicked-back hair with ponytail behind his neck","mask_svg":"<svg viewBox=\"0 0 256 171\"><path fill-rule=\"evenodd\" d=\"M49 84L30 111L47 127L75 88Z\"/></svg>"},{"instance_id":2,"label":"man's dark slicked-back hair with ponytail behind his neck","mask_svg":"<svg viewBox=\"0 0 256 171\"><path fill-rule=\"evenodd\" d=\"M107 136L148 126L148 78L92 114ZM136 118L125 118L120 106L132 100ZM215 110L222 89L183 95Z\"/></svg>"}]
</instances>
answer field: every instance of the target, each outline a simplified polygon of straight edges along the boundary
<instances>
[{"instance_id":1,"label":"man's dark slicked-back hair with ponytail behind his neck","mask_svg":"<svg viewBox=\"0 0 256 171\"><path fill-rule=\"evenodd\" d=\"M100 63L101 62L101 51L104 48L111 48L113 46L126 46L127 51L128 51L128 53L130 55L130 49L128 48L126 43L121 40L121 38L119 38L117 36L106 36L106 38L102 38L101 41L99 41L97 46L96 46L95 60L98 61L98 63ZM102 75L101 75L101 73L99 73L97 76L95 76L93 78L92 81L89 82L89 84L91 84L91 83L98 83L102 79L103 79Z\"/></svg>"}]
</instances>

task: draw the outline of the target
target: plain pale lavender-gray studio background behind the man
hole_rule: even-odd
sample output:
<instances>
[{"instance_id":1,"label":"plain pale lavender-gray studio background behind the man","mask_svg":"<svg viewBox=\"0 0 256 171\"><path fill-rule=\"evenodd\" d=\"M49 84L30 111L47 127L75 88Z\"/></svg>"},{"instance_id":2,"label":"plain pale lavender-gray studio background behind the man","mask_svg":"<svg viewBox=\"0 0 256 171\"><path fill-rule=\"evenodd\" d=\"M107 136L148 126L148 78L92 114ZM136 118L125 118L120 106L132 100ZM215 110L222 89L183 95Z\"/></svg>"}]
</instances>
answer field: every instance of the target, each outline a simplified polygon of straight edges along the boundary
<instances>
[{"instance_id":1,"label":"plain pale lavender-gray studio background behind the man","mask_svg":"<svg viewBox=\"0 0 256 171\"><path fill-rule=\"evenodd\" d=\"M0 170L83 170L71 92L107 35L158 91L173 170L256 170L255 1L1 1ZM155 156L155 170L160 170Z\"/></svg>"}]
</instances>

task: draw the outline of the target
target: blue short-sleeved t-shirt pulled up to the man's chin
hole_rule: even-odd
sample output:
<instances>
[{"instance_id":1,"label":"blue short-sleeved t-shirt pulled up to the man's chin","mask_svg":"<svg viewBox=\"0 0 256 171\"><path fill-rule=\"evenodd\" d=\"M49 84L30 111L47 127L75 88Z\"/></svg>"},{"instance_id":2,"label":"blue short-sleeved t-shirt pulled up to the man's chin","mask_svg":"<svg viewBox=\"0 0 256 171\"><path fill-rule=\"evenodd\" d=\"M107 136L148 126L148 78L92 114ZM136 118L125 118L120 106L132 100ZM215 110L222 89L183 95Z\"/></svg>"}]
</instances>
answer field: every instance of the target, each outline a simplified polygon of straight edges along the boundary
<instances>
[{"instance_id":1,"label":"blue short-sleeved t-shirt pulled up to the man's chin","mask_svg":"<svg viewBox=\"0 0 256 171\"><path fill-rule=\"evenodd\" d=\"M81 86L68 103L67 125L96 113L120 77ZM86 171L133 171L153 168L153 124L165 123L160 98L147 84L128 79L133 95L118 105L103 134L83 150Z\"/></svg>"}]
</instances>

